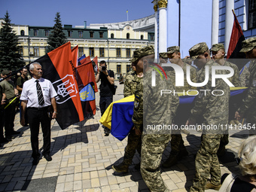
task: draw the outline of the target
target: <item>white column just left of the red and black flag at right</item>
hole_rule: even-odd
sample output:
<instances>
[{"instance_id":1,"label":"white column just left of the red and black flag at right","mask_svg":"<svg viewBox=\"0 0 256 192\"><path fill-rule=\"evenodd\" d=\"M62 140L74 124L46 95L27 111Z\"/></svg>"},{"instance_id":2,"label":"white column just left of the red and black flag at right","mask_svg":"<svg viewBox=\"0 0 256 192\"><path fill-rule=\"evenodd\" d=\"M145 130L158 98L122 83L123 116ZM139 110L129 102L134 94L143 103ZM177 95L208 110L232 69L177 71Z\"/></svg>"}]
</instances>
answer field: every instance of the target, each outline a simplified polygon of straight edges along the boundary
<instances>
[{"instance_id":1,"label":"white column just left of the red and black flag at right","mask_svg":"<svg viewBox=\"0 0 256 192\"><path fill-rule=\"evenodd\" d=\"M230 36L233 29L233 12L234 1L226 0L226 21L225 21L225 50L227 52L230 45Z\"/></svg>"}]
</instances>

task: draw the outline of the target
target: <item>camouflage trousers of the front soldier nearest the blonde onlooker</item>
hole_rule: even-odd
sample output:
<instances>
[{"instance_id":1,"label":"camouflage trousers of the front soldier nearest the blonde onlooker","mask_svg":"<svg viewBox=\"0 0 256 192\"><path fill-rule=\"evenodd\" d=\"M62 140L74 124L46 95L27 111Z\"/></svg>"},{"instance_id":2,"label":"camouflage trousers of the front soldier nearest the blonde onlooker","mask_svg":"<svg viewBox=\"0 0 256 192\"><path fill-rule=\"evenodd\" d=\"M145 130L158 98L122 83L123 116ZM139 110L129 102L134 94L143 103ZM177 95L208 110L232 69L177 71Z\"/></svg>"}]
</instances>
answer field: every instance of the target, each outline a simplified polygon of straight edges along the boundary
<instances>
[{"instance_id":1,"label":"camouflage trousers of the front soldier nearest the blonde onlooker","mask_svg":"<svg viewBox=\"0 0 256 192\"><path fill-rule=\"evenodd\" d=\"M221 184L221 168L217 156L221 136L221 134L212 133L202 135L200 149L195 160L196 175L190 192L204 191L209 175L212 184Z\"/></svg>"}]
</instances>

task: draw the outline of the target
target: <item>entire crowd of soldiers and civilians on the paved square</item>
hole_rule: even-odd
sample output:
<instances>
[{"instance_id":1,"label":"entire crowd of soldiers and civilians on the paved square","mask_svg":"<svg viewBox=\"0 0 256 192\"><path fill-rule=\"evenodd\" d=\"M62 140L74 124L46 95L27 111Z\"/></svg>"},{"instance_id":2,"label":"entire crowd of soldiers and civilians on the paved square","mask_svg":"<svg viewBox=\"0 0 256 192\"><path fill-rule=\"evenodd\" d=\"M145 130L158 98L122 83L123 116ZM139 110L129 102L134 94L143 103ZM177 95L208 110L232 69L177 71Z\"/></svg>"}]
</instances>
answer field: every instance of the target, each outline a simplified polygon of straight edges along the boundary
<instances>
[{"instance_id":1,"label":"entire crowd of soldiers and civilians on the paved square","mask_svg":"<svg viewBox=\"0 0 256 192\"><path fill-rule=\"evenodd\" d=\"M256 126L256 38L248 38L242 41L242 50L248 59L251 59L250 65L238 69L236 65L228 62L225 57L223 44L213 44L211 49L206 43L195 44L190 48L190 56L181 59L180 48L178 46L168 47L165 53L160 53L161 66L164 63L171 62L179 66L184 78L187 79L189 72L190 81L202 83L200 87L194 87L188 81L184 81L183 87L176 86L175 70L164 67L166 71L166 80L159 74L155 74L156 81L152 84L154 65L154 47L147 46L136 49L133 53L132 62L133 71L126 74L121 81L124 84L123 95L135 95L133 108L134 127L128 135L128 142L125 148L123 162L119 165L113 165L115 172L128 172L132 163L133 156L138 151L141 156L141 162L136 165L140 169L142 178L151 191L169 191L169 188L163 181L160 172L160 166L171 167L188 155L181 137L181 131L184 130L148 130L147 125L175 124L194 125L202 123L203 125L228 125L230 123L239 123L239 120L246 118L246 122L251 127ZM212 53L212 54L211 54ZM215 67L227 66L233 69L234 74L228 78L234 87L248 87L245 95L239 99L239 104L231 102L230 87L224 78L217 78L212 86L212 75L227 75L228 70L216 70ZM190 68L187 71L187 68ZM209 70L206 72L206 69ZM42 152L47 161L52 160L50 156L50 120L56 118L56 91L50 81L42 78L43 69L38 62L33 62L29 66L29 72L32 78L27 78L28 70L26 68L20 71L20 77L11 80L11 71L3 70L0 83L0 142L9 142L13 135L20 134L14 130L15 108L20 99L20 123L27 126L31 132L32 145L32 164L37 165L41 154L38 151L38 133L41 123L44 136L44 151ZM209 75L209 81L206 75ZM105 61L99 62L99 72L96 74L96 82L101 81L99 90L99 108L101 114L104 114L108 105L113 102L115 93L114 72L107 70ZM193 103L181 105L177 94L160 94L162 90L175 90L175 92L187 92L188 90L209 90L204 94L197 94ZM215 94L212 94L215 92ZM216 96L216 94L218 96ZM52 106L53 111L49 111ZM3 127L5 126L5 136ZM103 127L105 136L108 136L110 130ZM184 132L186 133L186 132ZM188 134L188 133L187 133ZM204 191L206 189L226 191L221 183L225 184L232 180L230 191L238 191L236 187L244 184L247 187L255 188L256 175L256 150L255 150L255 128L249 132L249 138L243 142L239 149L239 166L242 171L241 176L224 175L221 178L221 169L218 156L224 155L228 144L228 130L222 129L204 129L202 130L200 149L195 157L196 174L190 191ZM162 154L166 146L171 142L171 152L167 160L161 165ZM229 181L227 181L229 179ZM229 182L231 183L231 181ZM247 191L247 190L246 190ZM248 190L251 191L251 190Z\"/></svg>"}]
</instances>

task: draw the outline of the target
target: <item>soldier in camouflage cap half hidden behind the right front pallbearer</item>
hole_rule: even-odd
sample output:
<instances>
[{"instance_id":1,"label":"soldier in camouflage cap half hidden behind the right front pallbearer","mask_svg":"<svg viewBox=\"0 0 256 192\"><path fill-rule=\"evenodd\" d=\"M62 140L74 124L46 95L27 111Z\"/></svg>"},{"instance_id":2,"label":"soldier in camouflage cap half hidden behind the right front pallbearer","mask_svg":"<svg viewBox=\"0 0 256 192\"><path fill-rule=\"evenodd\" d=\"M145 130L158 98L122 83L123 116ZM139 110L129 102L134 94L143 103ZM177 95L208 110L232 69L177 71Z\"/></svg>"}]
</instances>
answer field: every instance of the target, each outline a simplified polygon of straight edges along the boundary
<instances>
[{"instance_id":1,"label":"soldier in camouflage cap half hidden behind the right front pallbearer","mask_svg":"<svg viewBox=\"0 0 256 192\"><path fill-rule=\"evenodd\" d=\"M239 81L239 70L238 67L233 64L232 62L228 62L227 60L224 59L225 56L225 48L224 44L213 44L212 45L212 59L215 60L218 64L221 66L229 66L232 67L234 74L231 78L228 78L228 80L235 86L235 87L241 87L240 81ZM233 96L230 99L230 116L229 116L229 122L230 120L233 120L234 114L237 110L237 102L241 99L241 96ZM231 123L230 123L231 124ZM228 144L228 130L225 131L221 138L221 145L220 148L218 149L218 156L222 157L224 156L226 152L225 146Z\"/></svg>"}]
</instances>

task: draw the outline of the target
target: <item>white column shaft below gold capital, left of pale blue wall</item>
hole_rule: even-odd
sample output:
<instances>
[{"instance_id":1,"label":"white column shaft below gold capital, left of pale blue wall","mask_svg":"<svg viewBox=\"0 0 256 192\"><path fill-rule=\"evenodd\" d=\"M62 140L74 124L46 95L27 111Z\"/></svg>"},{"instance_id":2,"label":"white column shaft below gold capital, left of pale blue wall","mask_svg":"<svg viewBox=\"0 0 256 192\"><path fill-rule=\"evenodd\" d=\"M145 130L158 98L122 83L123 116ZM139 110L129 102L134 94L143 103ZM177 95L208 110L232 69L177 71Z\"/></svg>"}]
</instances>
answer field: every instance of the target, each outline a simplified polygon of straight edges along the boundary
<instances>
[{"instance_id":1,"label":"white column shaft below gold capital, left of pale blue wall","mask_svg":"<svg viewBox=\"0 0 256 192\"><path fill-rule=\"evenodd\" d=\"M159 53L167 51L166 8L159 8Z\"/></svg>"}]
</instances>

